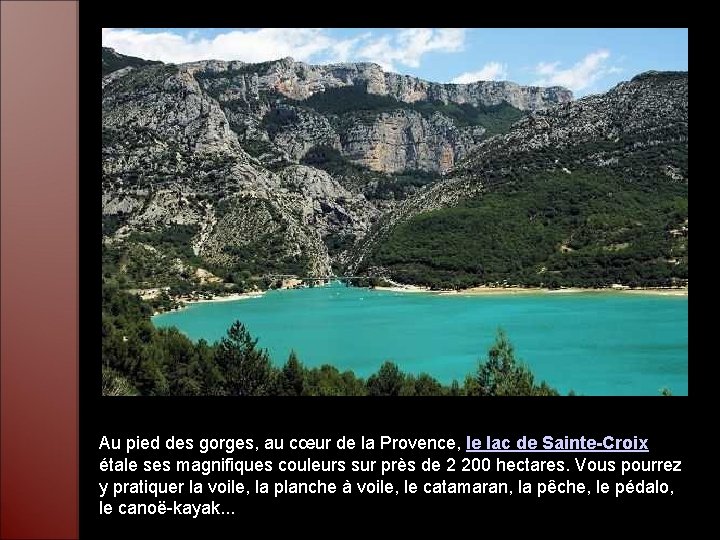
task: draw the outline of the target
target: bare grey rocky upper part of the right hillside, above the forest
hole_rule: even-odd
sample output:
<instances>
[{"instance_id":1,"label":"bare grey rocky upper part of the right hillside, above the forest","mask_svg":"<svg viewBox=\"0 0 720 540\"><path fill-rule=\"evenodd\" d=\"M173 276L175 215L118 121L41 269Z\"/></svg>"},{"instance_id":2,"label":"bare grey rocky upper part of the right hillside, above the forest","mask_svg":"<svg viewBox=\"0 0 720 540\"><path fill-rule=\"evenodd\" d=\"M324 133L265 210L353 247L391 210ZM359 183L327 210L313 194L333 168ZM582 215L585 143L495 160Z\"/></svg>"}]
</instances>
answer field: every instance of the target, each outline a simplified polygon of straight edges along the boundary
<instances>
[{"instance_id":1,"label":"bare grey rocky upper part of the right hillside, above the forest","mask_svg":"<svg viewBox=\"0 0 720 540\"><path fill-rule=\"evenodd\" d=\"M622 167L644 149L686 145L687 72L647 72L604 94L537 111L510 131L481 142L446 178L405 201L395 221L450 206L517 173L565 170L588 165ZM687 182L687 170L668 157L654 172ZM653 164L635 164L650 168Z\"/></svg>"}]
</instances>

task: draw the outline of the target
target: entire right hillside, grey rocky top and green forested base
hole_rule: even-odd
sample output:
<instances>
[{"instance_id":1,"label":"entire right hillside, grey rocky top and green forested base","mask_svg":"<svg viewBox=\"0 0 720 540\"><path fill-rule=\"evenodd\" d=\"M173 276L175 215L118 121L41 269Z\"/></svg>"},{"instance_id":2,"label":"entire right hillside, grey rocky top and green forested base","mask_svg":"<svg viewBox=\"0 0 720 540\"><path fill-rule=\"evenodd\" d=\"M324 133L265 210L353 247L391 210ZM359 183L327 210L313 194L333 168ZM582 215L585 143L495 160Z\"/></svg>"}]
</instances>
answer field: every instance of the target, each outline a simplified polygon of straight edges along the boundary
<instances>
[{"instance_id":1,"label":"entire right hillside, grey rocky top and green forested base","mask_svg":"<svg viewBox=\"0 0 720 540\"><path fill-rule=\"evenodd\" d=\"M687 73L531 115L416 193L355 267L466 287L687 282Z\"/></svg>"}]
</instances>

